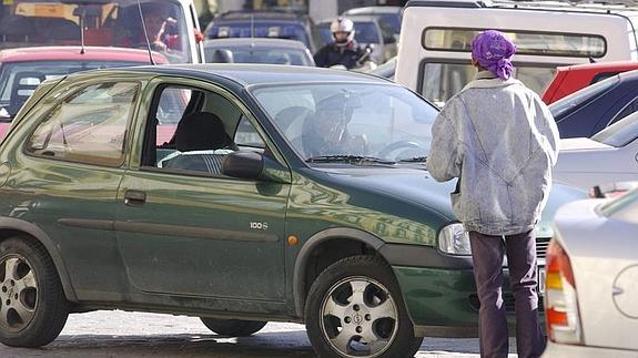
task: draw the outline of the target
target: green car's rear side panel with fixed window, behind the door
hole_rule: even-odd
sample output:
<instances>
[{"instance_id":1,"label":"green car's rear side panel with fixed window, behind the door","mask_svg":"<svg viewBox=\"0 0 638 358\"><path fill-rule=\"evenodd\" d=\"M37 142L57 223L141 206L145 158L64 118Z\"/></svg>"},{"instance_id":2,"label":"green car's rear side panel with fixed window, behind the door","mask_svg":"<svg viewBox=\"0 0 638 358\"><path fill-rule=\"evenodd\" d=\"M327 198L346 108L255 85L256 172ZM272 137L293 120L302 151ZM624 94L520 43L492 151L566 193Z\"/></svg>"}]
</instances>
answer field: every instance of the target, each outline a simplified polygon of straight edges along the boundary
<instances>
[{"instance_id":1,"label":"green car's rear side panel with fixed window, behind the door","mask_svg":"<svg viewBox=\"0 0 638 358\"><path fill-rule=\"evenodd\" d=\"M53 241L79 299L121 297L112 228L138 78L97 75L55 89L32 110L41 120L12 164L20 173L12 185L23 193L13 213Z\"/></svg>"}]
</instances>

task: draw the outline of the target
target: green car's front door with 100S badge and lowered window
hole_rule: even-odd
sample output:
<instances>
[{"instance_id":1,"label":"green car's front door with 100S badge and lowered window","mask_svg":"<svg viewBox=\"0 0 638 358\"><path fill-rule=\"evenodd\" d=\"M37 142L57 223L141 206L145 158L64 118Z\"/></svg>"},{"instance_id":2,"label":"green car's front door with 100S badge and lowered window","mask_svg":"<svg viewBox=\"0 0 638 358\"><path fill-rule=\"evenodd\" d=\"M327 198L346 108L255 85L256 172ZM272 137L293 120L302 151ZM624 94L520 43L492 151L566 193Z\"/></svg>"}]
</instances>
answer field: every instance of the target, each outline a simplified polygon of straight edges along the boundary
<instances>
[{"instance_id":1,"label":"green car's front door with 100S badge and lowered window","mask_svg":"<svg viewBox=\"0 0 638 358\"><path fill-rule=\"evenodd\" d=\"M241 143L186 149L182 137L191 141L209 131L206 124L192 127L194 121L219 119L236 140L240 119L250 113L229 92L195 88L192 80L160 85L162 81L155 81L153 99L146 101L151 120L138 129L145 134L139 158L119 190L115 229L129 280L144 293L282 303L288 186L222 175L219 160ZM168 98L189 99L190 104L162 109L160 103L179 102ZM165 129L154 131L153 123L162 122L155 117L180 111L190 113L182 112L173 125L175 135L162 145L153 132ZM205 141L213 136L219 137L199 135ZM184 157L190 161L175 164ZM205 165L189 166L199 157L206 158ZM233 310L246 307L233 305Z\"/></svg>"}]
</instances>

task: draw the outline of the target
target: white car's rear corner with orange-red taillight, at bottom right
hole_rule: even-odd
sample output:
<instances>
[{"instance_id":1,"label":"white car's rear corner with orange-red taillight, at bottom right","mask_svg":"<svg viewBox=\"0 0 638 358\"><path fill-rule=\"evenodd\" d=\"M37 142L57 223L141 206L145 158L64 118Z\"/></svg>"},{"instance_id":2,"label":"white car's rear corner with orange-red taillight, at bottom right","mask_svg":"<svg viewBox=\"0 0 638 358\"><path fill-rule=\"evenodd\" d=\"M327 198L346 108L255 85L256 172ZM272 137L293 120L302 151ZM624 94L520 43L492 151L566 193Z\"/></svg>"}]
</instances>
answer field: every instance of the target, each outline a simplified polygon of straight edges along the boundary
<instances>
[{"instance_id":1,"label":"white car's rear corner with orange-red taillight, at bottom right","mask_svg":"<svg viewBox=\"0 0 638 358\"><path fill-rule=\"evenodd\" d=\"M565 205L554 233L543 358L638 357L638 190Z\"/></svg>"}]
</instances>

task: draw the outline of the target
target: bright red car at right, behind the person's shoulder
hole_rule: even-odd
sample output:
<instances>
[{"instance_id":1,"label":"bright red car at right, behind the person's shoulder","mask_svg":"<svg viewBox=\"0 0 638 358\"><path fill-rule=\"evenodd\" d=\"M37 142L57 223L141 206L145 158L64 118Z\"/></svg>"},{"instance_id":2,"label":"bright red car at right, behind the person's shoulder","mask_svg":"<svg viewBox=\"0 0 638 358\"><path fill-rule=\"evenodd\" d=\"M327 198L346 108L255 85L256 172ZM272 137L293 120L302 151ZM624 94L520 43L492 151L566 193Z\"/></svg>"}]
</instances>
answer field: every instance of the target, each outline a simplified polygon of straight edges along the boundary
<instances>
[{"instance_id":1,"label":"bright red car at right, behind the person's shoulder","mask_svg":"<svg viewBox=\"0 0 638 358\"><path fill-rule=\"evenodd\" d=\"M638 70L638 62L598 62L557 68L554 79L551 79L545 93L543 93L543 101L550 104L589 84L631 70Z\"/></svg>"}]
</instances>

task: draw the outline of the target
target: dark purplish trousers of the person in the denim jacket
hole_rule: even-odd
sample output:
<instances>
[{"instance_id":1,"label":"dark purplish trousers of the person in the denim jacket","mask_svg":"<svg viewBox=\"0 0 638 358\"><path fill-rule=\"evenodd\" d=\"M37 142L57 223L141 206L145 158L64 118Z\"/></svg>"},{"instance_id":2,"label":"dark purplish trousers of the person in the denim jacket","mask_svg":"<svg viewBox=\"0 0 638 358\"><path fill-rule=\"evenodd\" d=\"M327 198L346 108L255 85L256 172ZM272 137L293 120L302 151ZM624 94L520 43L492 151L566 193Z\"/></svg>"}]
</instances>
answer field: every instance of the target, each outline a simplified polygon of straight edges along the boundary
<instances>
[{"instance_id":1,"label":"dark purplish trousers of the person in the denim jacket","mask_svg":"<svg viewBox=\"0 0 638 358\"><path fill-rule=\"evenodd\" d=\"M502 290L505 253L509 268L509 286L515 299L518 357L540 357L545 350L545 337L538 324L534 231L505 237L470 232L469 242L474 260L474 279L480 301L478 311L480 357L507 357L509 350Z\"/></svg>"}]
</instances>

